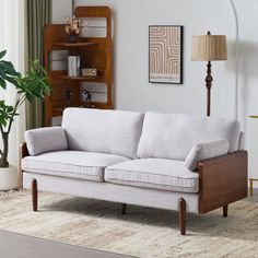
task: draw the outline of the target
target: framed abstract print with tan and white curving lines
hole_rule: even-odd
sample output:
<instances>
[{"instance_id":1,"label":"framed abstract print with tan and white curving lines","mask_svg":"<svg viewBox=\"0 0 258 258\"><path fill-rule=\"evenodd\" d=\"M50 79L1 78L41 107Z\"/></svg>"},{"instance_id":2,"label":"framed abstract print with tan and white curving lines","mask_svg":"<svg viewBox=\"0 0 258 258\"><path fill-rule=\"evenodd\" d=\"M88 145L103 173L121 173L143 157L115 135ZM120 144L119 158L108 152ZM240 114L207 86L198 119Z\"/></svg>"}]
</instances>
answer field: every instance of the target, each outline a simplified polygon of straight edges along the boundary
<instances>
[{"instance_id":1,"label":"framed abstract print with tan and white curving lines","mask_svg":"<svg viewBox=\"0 0 258 258\"><path fill-rule=\"evenodd\" d=\"M149 82L183 83L183 26L149 27Z\"/></svg>"}]
</instances>

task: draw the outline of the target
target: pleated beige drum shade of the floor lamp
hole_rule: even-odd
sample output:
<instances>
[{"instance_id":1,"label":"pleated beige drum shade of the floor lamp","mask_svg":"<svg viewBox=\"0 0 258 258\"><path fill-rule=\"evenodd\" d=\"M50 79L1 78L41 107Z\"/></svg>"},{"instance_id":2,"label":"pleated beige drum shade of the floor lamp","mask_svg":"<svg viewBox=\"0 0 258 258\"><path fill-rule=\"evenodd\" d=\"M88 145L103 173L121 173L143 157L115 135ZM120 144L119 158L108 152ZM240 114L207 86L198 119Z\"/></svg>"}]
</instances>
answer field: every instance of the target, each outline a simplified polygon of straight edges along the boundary
<instances>
[{"instance_id":1,"label":"pleated beige drum shade of the floor lamp","mask_svg":"<svg viewBox=\"0 0 258 258\"><path fill-rule=\"evenodd\" d=\"M191 60L212 61L226 60L226 36L225 35L201 35L192 36Z\"/></svg>"}]
</instances>

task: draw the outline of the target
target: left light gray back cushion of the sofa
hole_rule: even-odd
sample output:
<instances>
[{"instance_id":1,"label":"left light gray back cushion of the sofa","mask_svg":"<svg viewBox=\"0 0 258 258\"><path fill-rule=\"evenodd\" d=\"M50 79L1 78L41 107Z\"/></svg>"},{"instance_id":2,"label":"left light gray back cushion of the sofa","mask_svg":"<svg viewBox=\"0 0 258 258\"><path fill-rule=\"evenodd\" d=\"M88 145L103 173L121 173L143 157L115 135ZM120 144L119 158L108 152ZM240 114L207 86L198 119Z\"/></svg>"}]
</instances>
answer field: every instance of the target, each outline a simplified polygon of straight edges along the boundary
<instances>
[{"instance_id":1,"label":"left light gray back cushion of the sofa","mask_svg":"<svg viewBox=\"0 0 258 258\"><path fill-rule=\"evenodd\" d=\"M62 127L68 148L75 151L137 156L143 114L118 110L67 108Z\"/></svg>"}]
</instances>

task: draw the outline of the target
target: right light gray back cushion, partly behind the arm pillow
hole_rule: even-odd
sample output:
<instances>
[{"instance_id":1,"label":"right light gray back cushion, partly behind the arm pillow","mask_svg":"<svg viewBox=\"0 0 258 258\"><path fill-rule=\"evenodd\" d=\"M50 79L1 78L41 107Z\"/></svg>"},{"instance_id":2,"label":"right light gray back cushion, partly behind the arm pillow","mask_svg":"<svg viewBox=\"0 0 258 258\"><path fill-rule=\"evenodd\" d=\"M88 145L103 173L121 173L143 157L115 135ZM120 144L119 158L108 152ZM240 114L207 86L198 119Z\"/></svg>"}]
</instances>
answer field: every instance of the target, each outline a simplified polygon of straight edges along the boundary
<instances>
[{"instance_id":1,"label":"right light gray back cushion, partly behind the arm pillow","mask_svg":"<svg viewBox=\"0 0 258 258\"><path fill-rule=\"evenodd\" d=\"M146 113L139 157L185 160L197 143L225 139L238 150L239 124L233 119Z\"/></svg>"}]
</instances>

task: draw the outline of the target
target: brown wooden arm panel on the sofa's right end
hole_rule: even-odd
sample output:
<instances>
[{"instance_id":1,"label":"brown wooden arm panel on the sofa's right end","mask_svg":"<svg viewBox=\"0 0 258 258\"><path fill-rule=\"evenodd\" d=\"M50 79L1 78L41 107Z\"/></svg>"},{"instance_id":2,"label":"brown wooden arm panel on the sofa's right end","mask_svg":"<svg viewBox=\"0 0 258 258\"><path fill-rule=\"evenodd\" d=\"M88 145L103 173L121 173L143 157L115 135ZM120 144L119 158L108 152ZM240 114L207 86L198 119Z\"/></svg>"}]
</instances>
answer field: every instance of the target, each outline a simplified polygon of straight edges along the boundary
<instances>
[{"instance_id":1,"label":"brown wooden arm panel on the sofa's right end","mask_svg":"<svg viewBox=\"0 0 258 258\"><path fill-rule=\"evenodd\" d=\"M247 197L247 152L199 162L199 213Z\"/></svg>"}]
</instances>

